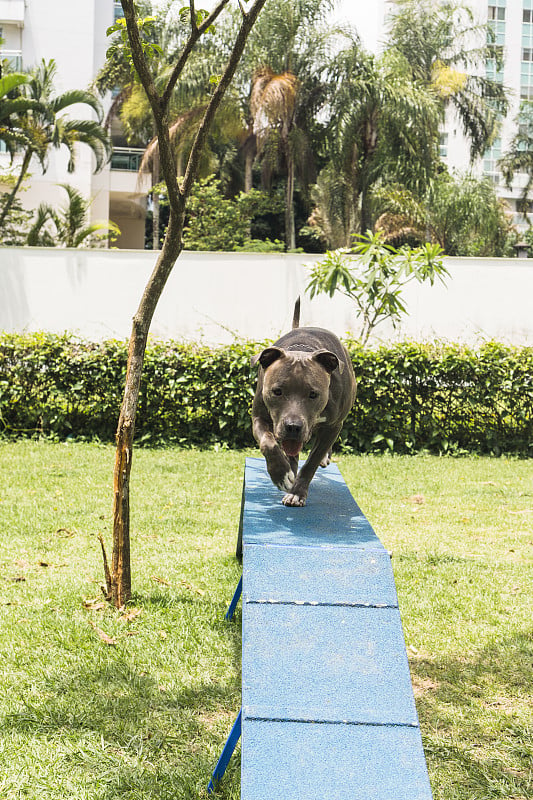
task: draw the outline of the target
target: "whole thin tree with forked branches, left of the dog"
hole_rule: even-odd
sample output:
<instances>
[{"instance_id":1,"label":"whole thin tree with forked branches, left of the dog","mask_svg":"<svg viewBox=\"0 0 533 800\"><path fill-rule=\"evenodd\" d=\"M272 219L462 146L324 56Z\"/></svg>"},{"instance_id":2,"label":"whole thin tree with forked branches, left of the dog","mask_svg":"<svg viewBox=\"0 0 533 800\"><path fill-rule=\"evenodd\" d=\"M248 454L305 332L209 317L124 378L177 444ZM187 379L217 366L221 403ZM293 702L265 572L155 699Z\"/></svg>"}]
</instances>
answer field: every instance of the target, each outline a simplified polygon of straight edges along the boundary
<instances>
[{"instance_id":1,"label":"whole thin tree with forked branches, left of the dog","mask_svg":"<svg viewBox=\"0 0 533 800\"><path fill-rule=\"evenodd\" d=\"M148 97L154 125L159 142L159 159L163 179L167 186L169 202L169 222L161 252L154 270L144 289L139 307L133 317L129 342L126 384L116 436L116 454L113 481L113 554L109 565L105 558L107 593L113 604L120 608L131 597L130 564L130 475L133 455L135 417L139 400L141 374L148 331L157 303L167 279L183 248L182 234L186 201L197 177L202 150L213 118L228 89L242 56L246 41L266 0L254 0L245 4L238 0L241 22L235 37L227 66L215 85L210 102L198 127L190 150L185 174L178 180L174 149L169 135L169 104L174 88L183 74L195 45L229 4L229 0L219 0L211 13L195 9L194 0L189 0L188 18L190 33L176 58L174 68L163 90L156 88L154 75L150 68L150 49L145 47L138 25L133 0L122 0L125 18L124 41L131 50L134 69ZM184 10L184 9L182 9Z\"/></svg>"}]
</instances>

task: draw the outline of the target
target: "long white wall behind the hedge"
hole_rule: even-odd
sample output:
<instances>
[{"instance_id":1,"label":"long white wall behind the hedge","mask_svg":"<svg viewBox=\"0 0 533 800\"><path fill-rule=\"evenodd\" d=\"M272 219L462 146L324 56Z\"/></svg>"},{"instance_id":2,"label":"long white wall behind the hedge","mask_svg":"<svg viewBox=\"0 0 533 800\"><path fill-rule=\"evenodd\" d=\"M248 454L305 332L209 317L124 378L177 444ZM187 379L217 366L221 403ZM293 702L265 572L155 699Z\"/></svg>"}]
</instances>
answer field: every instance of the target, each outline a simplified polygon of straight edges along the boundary
<instances>
[{"instance_id":1,"label":"long white wall behind the hedge","mask_svg":"<svg viewBox=\"0 0 533 800\"><path fill-rule=\"evenodd\" d=\"M302 295L302 325L357 333L342 297L304 296L306 265L319 256L183 253L152 324L160 338L209 344L235 336L262 340L290 328ZM71 331L82 337L127 338L155 263L150 251L0 249L0 329ZM533 345L533 260L450 258L444 286L411 284L409 316L400 329L376 329L374 341L484 339Z\"/></svg>"}]
</instances>

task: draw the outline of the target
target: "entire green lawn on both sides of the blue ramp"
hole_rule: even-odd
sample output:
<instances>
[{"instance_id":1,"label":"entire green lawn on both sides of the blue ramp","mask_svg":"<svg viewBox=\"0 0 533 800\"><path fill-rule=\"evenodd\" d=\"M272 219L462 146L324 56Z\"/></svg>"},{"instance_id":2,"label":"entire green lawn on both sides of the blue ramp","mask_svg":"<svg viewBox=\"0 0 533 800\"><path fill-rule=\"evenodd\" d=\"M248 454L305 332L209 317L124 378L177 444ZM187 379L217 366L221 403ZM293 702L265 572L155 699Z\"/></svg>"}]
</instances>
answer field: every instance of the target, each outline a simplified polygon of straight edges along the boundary
<instances>
[{"instance_id":1,"label":"entire green lawn on both sides of the blue ramp","mask_svg":"<svg viewBox=\"0 0 533 800\"><path fill-rule=\"evenodd\" d=\"M2 800L206 796L240 705L240 616L223 617L244 455L136 451L119 613L97 539L112 448L0 443ZM393 552L435 800L531 797L533 463L339 466ZM238 753L217 796L239 797Z\"/></svg>"}]
</instances>

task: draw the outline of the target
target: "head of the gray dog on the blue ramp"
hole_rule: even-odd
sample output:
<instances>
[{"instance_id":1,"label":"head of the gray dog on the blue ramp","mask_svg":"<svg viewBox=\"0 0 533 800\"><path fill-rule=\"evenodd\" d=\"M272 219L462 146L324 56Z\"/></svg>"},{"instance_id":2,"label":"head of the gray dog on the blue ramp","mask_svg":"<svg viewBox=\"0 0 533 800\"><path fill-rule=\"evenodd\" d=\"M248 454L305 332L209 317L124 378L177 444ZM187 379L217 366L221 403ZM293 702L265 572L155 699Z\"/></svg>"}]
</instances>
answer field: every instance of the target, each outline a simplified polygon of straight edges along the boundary
<instances>
[{"instance_id":1,"label":"head of the gray dog on the blue ramp","mask_svg":"<svg viewBox=\"0 0 533 800\"><path fill-rule=\"evenodd\" d=\"M296 457L313 430L325 422L331 374L344 364L329 350L313 353L267 347L252 358L264 373L262 398L272 419L273 433L288 456Z\"/></svg>"}]
</instances>

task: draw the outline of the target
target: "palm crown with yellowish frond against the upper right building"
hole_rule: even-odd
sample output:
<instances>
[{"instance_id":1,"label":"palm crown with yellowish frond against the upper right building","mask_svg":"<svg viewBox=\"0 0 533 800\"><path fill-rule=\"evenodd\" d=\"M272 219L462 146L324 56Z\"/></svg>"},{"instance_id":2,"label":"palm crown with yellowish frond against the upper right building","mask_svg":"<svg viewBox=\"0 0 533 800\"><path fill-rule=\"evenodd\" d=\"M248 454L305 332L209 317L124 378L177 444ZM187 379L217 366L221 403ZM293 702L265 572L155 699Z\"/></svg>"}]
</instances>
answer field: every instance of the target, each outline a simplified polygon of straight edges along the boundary
<instances>
[{"instance_id":1,"label":"palm crown with yellowish frond against the upper right building","mask_svg":"<svg viewBox=\"0 0 533 800\"><path fill-rule=\"evenodd\" d=\"M389 47L410 64L413 77L440 97L442 113L451 105L470 140L472 160L491 144L508 109L506 90L485 75L502 53L486 25L475 22L463 3L398 0L392 12Z\"/></svg>"}]
</instances>

